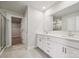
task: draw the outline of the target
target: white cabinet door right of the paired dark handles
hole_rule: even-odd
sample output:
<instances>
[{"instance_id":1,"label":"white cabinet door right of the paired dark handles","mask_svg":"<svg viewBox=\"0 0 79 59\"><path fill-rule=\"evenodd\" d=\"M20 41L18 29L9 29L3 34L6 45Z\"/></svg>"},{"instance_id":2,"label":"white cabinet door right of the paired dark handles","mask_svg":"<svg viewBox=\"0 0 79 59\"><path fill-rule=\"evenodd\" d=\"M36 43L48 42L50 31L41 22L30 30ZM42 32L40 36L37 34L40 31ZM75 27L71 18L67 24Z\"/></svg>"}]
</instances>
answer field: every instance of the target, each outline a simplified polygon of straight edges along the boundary
<instances>
[{"instance_id":1,"label":"white cabinet door right of the paired dark handles","mask_svg":"<svg viewBox=\"0 0 79 59\"><path fill-rule=\"evenodd\" d=\"M79 50L72 47L66 47L66 57L79 58Z\"/></svg>"}]
</instances>

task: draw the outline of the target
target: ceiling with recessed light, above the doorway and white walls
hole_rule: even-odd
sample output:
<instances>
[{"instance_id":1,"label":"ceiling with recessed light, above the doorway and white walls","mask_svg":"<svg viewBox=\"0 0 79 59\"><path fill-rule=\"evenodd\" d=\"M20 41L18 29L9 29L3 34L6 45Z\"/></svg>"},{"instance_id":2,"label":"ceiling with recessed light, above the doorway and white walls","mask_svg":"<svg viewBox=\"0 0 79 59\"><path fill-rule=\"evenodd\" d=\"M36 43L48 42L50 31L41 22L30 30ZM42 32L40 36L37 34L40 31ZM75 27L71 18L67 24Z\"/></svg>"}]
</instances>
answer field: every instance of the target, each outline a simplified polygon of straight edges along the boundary
<instances>
[{"instance_id":1,"label":"ceiling with recessed light, above the doorway and white walls","mask_svg":"<svg viewBox=\"0 0 79 59\"><path fill-rule=\"evenodd\" d=\"M0 8L24 14L27 6L32 6L40 11L45 11L58 1L0 1ZM45 7L43 9L43 7Z\"/></svg>"}]
</instances>

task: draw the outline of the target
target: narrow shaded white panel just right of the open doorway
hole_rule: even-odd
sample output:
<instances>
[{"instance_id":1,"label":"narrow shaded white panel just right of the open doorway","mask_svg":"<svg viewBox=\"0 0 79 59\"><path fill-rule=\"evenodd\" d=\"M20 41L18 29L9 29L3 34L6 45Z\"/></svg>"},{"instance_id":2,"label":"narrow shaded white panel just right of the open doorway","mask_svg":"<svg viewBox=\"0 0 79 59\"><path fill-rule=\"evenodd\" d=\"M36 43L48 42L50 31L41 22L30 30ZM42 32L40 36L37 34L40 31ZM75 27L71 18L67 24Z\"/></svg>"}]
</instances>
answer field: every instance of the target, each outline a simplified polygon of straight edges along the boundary
<instances>
[{"instance_id":1,"label":"narrow shaded white panel just right of the open doorway","mask_svg":"<svg viewBox=\"0 0 79 59\"><path fill-rule=\"evenodd\" d=\"M21 22L21 33L22 33L22 39L23 44L27 46L27 26L28 26L28 9L26 8L24 18Z\"/></svg>"}]
</instances>

